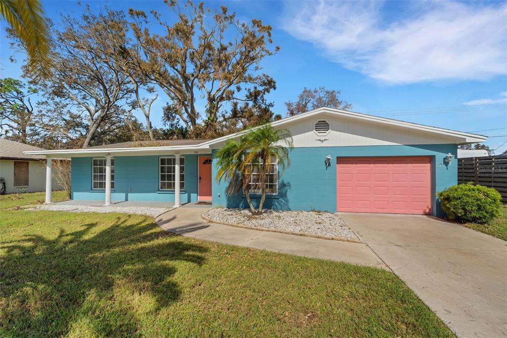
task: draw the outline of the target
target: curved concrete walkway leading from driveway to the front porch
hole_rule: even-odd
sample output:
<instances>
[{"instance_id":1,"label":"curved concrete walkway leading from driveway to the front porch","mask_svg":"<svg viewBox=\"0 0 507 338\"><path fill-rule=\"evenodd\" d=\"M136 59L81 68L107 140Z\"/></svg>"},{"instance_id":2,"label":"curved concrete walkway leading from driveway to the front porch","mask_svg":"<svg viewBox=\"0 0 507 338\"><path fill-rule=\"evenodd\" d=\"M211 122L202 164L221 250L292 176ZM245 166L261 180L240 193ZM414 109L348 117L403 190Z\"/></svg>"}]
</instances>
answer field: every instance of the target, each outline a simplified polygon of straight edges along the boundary
<instances>
[{"instance_id":1,"label":"curved concrete walkway leading from driveway to the front porch","mask_svg":"<svg viewBox=\"0 0 507 338\"><path fill-rule=\"evenodd\" d=\"M164 230L200 240L387 268L364 243L323 240L209 223L201 218L206 210L207 208L200 207L177 208L158 216L155 221Z\"/></svg>"}]
</instances>

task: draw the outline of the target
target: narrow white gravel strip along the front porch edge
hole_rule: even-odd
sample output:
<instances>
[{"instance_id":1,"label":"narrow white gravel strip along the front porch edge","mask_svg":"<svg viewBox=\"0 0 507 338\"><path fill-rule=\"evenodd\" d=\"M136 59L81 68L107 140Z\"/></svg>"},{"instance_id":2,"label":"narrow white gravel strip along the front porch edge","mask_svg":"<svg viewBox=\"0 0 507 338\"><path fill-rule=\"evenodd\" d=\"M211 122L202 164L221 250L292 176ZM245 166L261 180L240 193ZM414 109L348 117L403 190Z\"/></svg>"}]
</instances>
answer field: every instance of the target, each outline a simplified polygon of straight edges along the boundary
<instances>
[{"instance_id":1,"label":"narrow white gravel strip along the front porch edge","mask_svg":"<svg viewBox=\"0 0 507 338\"><path fill-rule=\"evenodd\" d=\"M70 211L73 213L125 213L125 214L138 214L157 217L171 208L158 208L158 207L119 207L119 206L75 206L75 205L39 205L30 206L25 210L49 210L49 211Z\"/></svg>"}]
</instances>

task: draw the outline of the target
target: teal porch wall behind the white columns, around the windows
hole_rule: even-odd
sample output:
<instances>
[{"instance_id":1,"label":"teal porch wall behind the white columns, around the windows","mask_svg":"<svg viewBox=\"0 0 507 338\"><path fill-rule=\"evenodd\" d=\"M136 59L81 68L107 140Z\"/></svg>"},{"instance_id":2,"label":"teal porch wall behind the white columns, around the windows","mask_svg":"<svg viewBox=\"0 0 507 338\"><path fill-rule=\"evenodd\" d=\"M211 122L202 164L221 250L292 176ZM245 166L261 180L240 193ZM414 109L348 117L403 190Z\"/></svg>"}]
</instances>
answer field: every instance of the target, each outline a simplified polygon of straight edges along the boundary
<instances>
[{"instance_id":1,"label":"teal porch wall behind the white columns, around the windows","mask_svg":"<svg viewBox=\"0 0 507 338\"><path fill-rule=\"evenodd\" d=\"M197 200L197 157L185 157L185 189L181 190L182 203ZM174 201L174 190L159 191L159 157L115 156L115 188L113 201ZM92 157L73 157L71 161L72 199L103 199L104 190L92 190Z\"/></svg>"}]
</instances>

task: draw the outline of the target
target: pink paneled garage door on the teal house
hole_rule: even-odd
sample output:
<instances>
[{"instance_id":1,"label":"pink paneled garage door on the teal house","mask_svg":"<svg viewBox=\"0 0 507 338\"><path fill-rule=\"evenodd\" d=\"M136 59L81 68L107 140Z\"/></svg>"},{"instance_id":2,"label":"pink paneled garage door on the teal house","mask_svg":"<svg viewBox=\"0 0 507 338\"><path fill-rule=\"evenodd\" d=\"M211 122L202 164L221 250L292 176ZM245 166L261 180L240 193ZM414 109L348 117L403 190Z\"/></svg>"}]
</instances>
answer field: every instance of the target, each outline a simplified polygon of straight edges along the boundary
<instances>
[{"instance_id":1,"label":"pink paneled garage door on the teal house","mask_svg":"<svg viewBox=\"0 0 507 338\"><path fill-rule=\"evenodd\" d=\"M336 163L338 211L430 213L429 157L338 157Z\"/></svg>"}]
</instances>

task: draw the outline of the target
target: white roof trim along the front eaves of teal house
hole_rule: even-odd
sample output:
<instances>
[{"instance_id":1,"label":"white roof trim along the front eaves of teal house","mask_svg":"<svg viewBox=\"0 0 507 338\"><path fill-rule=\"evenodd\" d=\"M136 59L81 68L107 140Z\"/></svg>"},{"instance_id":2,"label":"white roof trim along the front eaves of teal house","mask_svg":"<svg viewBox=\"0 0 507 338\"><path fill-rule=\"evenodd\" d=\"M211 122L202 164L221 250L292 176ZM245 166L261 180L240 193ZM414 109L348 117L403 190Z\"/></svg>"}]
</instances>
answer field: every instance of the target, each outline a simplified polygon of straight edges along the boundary
<instances>
[{"instance_id":1,"label":"white roof trim along the front eaves of teal house","mask_svg":"<svg viewBox=\"0 0 507 338\"><path fill-rule=\"evenodd\" d=\"M365 122L370 123L378 123L383 124L391 127L399 127L399 128L407 128L407 129L413 129L414 131L418 132L428 132L432 134L437 134L443 137L449 137L454 138L455 140L458 139L459 142L456 142L457 144L466 144L466 143L477 143L477 142L484 142L487 140L487 137L478 135L478 134L472 134L468 132L462 132L457 130L450 130L450 129L444 129L444 128L438 128L438 127L432 127L427 126L424 124L417 124L417 123L411 123L411 122L405 122L405 121L399 121L399 120L393 120L388 119L385 117L378 117L373 115L367 115L367 114L361 114L361 113L355 113L355 112L349 112L341 109L334 109L334 108L318 108L306 113L302 113L295 116L286 117L284 119L271 122L271 125L274 127L282 126L287 123L292 123L298 120L314 117L315 115L319 114L328 114L328 115L335 115L340 116L344 118L350 118L350 119L357 119L357 120L363 120ZM259 128L255 127L253 129ZM242 134L248 132L251 129L246 129L242 131L235 132L233 134L229 134L220 138L216 138L210 141L205 141L203 143L199 143L196 145L191 146L167 146L167 147L137 147L137 148L83 148L83 149L66 149L66 150L39 150L39 151L24 151L23 153L25 155L58 155L60 157L70 157L70 155L79 155L79 156L86 156L86 154L104 154L104 153L137 153L137 152L153 152L153 151L184 151L184 150L197 150L197 149L209 149L212 145L224 142L226 140L241 136Z\"/></svg>"}]
</instances>

